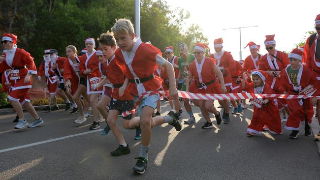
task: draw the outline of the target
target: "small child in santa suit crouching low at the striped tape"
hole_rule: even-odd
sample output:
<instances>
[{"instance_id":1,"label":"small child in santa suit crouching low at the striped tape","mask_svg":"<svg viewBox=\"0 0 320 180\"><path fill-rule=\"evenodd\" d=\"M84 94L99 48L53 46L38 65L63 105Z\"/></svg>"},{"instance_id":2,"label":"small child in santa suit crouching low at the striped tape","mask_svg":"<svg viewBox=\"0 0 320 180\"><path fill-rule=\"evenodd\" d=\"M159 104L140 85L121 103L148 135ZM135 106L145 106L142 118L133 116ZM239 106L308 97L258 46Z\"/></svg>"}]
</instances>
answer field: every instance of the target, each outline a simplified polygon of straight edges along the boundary
<instances>
[{"instance_id":1,"label":"small child in santa suit crouching low at the striped tape","mask_svg":"<svg viewBox=\"0 0 320 180\"><path fill-rule=\"evenodd\" d=\"M243 73L243 77L247 72ZM252 83L242 80L242 88L250 93L270 94L272 90L265 82L267 74L264 71L251 71ZM282 134L279 109L275 105L274 98L254 98L251 101L254 105L254 114L250 125L247 128L248 136L261 134L263 126L267 125L272 134Z\"/></svg>"}]
</instances>

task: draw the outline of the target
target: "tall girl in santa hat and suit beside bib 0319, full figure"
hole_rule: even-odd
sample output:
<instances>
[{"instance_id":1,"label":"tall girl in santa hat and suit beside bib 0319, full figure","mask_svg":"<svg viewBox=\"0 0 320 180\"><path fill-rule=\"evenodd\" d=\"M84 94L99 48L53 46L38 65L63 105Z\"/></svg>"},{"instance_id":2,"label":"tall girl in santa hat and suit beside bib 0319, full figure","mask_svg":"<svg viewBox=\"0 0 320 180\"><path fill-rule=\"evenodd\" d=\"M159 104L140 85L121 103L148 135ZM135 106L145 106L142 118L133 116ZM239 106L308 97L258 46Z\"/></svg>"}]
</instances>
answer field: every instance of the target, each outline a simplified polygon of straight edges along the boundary
<instances>
[{"instance_id":1,"label":"tall girl in santa hat and suit beside bib 0319, full figure","mask_svg":"<svg viewBox=\"0 0 320 180\"><path fill-rule=\"evenodd\" d=\"M97 128L100 128L100 125L99 125L99 118L98 118L99 112L98 112L98 109L96 108L96 104L97 104L98 96L100 95L100 93L102 93L102 88L93 90L92 85L99 83L102 80L102 78L101 76L96 77L91 73L91 71L94 68L97 68L99 64L99 59L97 58L96 50L94 49L96 47L95 39L87 38L85 42L86 42L87 52L86 54L80 57L80 76L83 76L83 78L86 79L87 93L90 96L90 106L92 107L92 112L94 115L94 122L90 126L90 129L97 129ZM80 84L81 84L81 80L80 80Z\"/></svg>"}]
</instances>

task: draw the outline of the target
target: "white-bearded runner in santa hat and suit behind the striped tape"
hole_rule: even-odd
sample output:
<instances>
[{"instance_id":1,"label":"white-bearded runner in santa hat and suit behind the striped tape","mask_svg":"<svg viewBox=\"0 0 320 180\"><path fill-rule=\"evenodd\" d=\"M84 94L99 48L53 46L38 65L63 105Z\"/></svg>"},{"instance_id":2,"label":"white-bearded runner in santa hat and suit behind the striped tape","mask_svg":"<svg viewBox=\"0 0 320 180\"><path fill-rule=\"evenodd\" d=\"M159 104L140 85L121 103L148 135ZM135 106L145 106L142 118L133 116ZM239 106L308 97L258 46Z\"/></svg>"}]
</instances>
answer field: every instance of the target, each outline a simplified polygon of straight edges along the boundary
<instances>
[{"instance_id":1,"label":"white-bearded runner in santa hat and suit behind the striped tape","mask_svg":"<svg viewBox=\"0 0 320 180\"><path fill-rule=\"evenodd\" d=\"M214 40L214 46L216 53L211 54L209 57L215 59L215 63L224 75L224 85L226 93L231 93L231 72L235 70L235 63L230 52L224 51L223 40L218 38ZM222 118L224 123L229 123L229 101L221 101L224 108L224 114Z\"/></svg>"}]
</instances>

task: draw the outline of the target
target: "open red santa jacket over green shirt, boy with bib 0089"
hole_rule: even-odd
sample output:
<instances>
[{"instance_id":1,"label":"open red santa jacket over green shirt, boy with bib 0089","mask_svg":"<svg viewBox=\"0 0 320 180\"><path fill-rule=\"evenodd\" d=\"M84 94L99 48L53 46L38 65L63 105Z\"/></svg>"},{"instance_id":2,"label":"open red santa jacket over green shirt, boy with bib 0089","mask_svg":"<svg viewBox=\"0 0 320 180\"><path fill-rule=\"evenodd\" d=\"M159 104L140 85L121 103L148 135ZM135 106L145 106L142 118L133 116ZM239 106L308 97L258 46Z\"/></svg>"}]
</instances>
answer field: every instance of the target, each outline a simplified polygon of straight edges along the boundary
<instances>
[{"instance_id":1,"label":"open red santa jacket over green shirt, boy with bib 0089","mask_svg":"<svg viewBox=\"0 0 320 180\"><path fill-rule=\"evenodd\" d=\"M310 71L306 66L301 65L300 69L297 74L297 83L298 86L294 86L291 82L288 74L288 67L290 64L282 70L282 86L281 90L288 92L288 94L299 94L299 90L304 90L307 86L313 85L317 88L319 81L317 81L316 77L313 76L312 71ZM318 94L320 90L317 90L316 93Z\"/></svg>"}]
</instances>

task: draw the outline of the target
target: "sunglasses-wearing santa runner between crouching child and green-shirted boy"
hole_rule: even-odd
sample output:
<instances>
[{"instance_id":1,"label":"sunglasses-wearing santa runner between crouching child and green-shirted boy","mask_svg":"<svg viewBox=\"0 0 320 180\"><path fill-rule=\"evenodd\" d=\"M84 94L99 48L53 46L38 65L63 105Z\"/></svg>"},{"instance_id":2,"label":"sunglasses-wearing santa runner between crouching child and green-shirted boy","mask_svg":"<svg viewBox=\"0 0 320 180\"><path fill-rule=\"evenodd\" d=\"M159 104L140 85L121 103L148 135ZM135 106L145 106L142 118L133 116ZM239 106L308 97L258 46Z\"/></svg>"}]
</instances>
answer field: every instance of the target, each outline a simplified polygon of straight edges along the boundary
<instances>
[{"instance_id":1,"label":"sunglasses-wearing santa runner between crouching child and green-shirted boy","mask_svg":"<svg viewBox=\"0 0 320 180\"><path fill-rule=\"evenodd\" d=\"M276 50L275 35L266 35L264 41L265 49L268 51L258 63L259 70L265 71L268 76L266 82L270 85L271 90L275 94L282 94L281 87L281 71L289 64L288 55L284 52ZM286 99L276 100L279 109L283 109L283 121L287 121L287 113L289 112ZM287 113L286 113L287 112Z\"/></svg>"}]
</instances>

